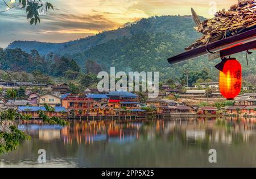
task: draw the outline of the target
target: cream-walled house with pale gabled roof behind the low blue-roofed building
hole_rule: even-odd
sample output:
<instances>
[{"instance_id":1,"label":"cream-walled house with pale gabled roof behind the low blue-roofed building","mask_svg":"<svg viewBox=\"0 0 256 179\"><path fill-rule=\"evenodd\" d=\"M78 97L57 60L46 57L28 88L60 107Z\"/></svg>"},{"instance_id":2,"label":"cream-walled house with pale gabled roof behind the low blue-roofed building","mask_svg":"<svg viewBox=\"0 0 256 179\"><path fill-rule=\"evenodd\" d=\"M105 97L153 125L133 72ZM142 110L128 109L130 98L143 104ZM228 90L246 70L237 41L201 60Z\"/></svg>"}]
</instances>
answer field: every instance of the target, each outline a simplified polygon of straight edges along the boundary
<instances>
[{"instance_id":1,"label":"cream-walled house with pale gabled roof behind the low blue-roofed building","mask_svg":"<svg viewBox=\"0 0 256 179\"><path fill-rule=\"evenodd\" d=\"M45 104L51 107L61 106L61 99L54 94L46 93L37 98L38 106L44 106Z\"/></svg>"}]
</instances>

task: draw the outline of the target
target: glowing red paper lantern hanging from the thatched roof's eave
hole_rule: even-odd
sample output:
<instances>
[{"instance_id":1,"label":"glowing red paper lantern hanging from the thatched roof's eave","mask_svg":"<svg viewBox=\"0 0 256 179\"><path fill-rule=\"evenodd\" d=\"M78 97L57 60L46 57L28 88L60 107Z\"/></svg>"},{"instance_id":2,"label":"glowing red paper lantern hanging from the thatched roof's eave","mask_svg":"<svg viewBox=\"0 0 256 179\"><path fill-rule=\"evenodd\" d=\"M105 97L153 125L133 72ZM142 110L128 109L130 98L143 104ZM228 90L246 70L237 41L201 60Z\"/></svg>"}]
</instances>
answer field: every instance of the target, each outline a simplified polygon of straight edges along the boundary
<instances>
[{"instance_id":1,"label":"glowing red paper lantern hanging from the thatched roof's eave","mask_svg":"<svg viewBox=\"0 0 256 179\"><path fill-rule=\"evenodd\" d=\"M240 94L242 66L236 59L224 59L216 68L220 70L220 92L228 100Z\"/></svg>"}]
</instances>

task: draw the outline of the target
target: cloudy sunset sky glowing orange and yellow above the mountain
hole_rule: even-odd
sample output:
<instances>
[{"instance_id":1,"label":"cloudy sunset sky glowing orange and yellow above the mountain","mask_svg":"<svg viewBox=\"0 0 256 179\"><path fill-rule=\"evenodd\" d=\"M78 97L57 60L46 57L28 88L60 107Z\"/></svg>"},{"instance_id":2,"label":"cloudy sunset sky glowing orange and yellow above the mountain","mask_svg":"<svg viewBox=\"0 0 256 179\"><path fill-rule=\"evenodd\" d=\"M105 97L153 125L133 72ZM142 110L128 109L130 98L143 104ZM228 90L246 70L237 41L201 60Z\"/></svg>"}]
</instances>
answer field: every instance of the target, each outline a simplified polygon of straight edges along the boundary
<instances>
[{"instance_id":1,"label":"cloudy sunset sky glowing orange and yellow above the mountain","mask_svg":"<svg viewBox=\"0 0 256 179\"><path fill-rule=\"evenodd\" d=\"M9 0L6 0L9 1ZM45 0L54 11L40 16L41 23L30 26L26 12L12 9L0 13L0 47L14 40L37 40L60 43L85 38L104 30L122 27L127 22L155 15L191 15L191 7L198 15L211 18L209 2L216 2L217 10L228 9L237 0ZM0 0L0 11L6 7Z\"/></svg>"}]
</instances>

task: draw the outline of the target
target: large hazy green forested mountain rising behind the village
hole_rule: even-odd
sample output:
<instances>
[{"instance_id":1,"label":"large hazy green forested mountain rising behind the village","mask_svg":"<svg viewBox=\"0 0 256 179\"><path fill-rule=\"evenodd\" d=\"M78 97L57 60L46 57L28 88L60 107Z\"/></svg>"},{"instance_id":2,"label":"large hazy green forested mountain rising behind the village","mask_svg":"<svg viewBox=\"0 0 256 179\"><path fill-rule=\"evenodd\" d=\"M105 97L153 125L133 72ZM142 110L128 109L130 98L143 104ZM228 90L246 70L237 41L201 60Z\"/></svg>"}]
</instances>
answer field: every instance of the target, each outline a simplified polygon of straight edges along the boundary
<instances>
[{"instance_id":1,"label":"large hazy green forested mountain rising behind the village","mask_svg":"<svg viewBox=\"0 0 256 179\"><path fill-rule=\"evenodd\" d=\"M207 68L213 80L217 80L218 70L214 65L219 60L208 61L203 57L173 66L167 62L168 57L183 52L185 47L200 38L201 34L193 27L195 23L192 16L153 16L117 30L104 31L66 43L14 41L9 48L20 48L26 52L36 49L45 56L52 52L75 60L81 69L85 69L85 62L90 59L108 72L110 66L124 72L159 71L160 78L179 77L185 68ZM238 56L245 64L245 56ZM246 73L255 73L254 67L247 68Z\"/></svg>"}]
</instances>

